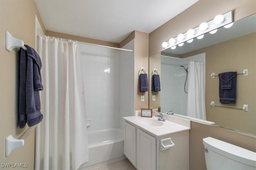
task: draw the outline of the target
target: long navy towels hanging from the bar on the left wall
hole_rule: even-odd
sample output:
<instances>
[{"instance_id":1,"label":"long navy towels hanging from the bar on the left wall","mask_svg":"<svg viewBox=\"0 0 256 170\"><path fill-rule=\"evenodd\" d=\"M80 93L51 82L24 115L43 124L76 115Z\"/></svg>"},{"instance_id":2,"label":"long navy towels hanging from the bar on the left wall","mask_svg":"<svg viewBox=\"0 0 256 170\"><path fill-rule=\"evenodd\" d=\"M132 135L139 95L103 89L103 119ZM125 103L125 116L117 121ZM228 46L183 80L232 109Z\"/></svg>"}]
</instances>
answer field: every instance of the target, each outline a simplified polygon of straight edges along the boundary
<instances>
[{"instance_id":1,"label":"long navy towels hanging from the bar on the left wall","mask_svg":"<svg viewBox=\"0 0 256 170\"><path fill-rule=\"evenodd\" d=\"M36 51L25 45L27 51L20 49L20 96L19 126L34 126L43 119L39 90L43 90L40 70L42 63Z\"/></svg>"}]
</instances>

